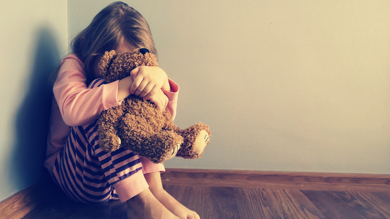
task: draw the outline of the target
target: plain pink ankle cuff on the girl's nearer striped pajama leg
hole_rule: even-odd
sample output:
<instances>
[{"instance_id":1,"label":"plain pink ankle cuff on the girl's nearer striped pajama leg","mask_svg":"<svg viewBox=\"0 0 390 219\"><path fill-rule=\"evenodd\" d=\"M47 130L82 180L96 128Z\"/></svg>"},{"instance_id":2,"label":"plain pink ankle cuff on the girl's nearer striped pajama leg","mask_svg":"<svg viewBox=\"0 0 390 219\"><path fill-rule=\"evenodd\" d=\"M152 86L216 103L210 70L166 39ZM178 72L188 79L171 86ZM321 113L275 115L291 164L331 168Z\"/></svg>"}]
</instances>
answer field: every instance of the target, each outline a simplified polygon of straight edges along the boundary
<instances>
[{"instance_id":1,"label":"plain pink ankle cuff on the girl's nearer striped pajama leg","mask_svg":"<svg viewBox=\"0 0 390 219\"><path fill-rule=\"evenodd\" d=\"M124 202L149 187L142 171L116 182L113 187L121 202Z\"/></svg>"}]
</instances>

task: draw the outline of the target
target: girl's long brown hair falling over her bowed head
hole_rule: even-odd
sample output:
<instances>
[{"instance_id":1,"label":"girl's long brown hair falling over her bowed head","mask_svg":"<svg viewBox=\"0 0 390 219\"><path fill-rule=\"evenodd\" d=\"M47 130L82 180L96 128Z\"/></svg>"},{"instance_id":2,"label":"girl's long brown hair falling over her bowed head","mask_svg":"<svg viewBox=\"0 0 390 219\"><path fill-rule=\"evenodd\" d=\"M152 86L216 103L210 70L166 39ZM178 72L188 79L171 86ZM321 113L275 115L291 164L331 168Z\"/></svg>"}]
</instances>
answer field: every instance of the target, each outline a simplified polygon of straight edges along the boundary
<instances>
[{"instance_id":1,"label":"girl's long brown hair falling over her bowed head","mask_svg":"<svg viewBox=\"0 0 390 219\"><path fill-rule=\"evenodd\" d=\"M88 81L94 56L115 49L123 40L134 47L144 47L151 53L157 53L145 18L126 3L116 1L98 12L72 40L73 53L84 63Z\"/></svg>"}]
</instances>

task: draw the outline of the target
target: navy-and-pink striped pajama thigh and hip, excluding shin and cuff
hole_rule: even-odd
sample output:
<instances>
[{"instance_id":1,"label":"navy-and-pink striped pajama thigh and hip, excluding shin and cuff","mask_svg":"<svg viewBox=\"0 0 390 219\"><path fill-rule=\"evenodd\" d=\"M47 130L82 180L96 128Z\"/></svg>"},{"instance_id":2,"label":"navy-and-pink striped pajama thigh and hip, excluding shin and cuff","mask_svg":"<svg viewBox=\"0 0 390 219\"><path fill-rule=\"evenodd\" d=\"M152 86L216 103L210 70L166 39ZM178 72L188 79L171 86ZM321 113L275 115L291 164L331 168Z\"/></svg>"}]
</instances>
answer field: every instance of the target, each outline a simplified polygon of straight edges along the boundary
<instances>
[{"instance_id":1,"label":"navy-and-pink striped pajama thigh and hip, excluding shin and cuff","mask_svg":"<svg viewBox=\"0 0 390 219\"><path fill-rule=\"evenodd\" d=\"M100 162L85 140L89 129L71 128L66 145L56 157L52 178L70 199L77 202L118 199L116 191L107 186Z\"/></svg>"}]
</instances>

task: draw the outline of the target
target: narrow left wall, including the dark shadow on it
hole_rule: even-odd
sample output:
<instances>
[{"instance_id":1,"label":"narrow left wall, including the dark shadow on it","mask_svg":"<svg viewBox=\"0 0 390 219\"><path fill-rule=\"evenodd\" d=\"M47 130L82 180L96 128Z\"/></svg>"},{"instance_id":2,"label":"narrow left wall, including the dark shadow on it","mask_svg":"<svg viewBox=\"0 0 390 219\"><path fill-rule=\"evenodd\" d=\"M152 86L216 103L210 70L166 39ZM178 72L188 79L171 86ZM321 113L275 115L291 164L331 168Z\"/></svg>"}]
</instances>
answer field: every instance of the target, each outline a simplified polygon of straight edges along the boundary
<instances>
[{"instance_id":1,"label":"narrow left wall, including the dark shadow on it","mask_svg":"<svg viewBox=\"0 0 390 219\"><path fill-rule=\"evenodd\" d=\"M49 74L67 52L66 0L0 6L0 201L41 179Z\"/></svg>"}]
</instances>

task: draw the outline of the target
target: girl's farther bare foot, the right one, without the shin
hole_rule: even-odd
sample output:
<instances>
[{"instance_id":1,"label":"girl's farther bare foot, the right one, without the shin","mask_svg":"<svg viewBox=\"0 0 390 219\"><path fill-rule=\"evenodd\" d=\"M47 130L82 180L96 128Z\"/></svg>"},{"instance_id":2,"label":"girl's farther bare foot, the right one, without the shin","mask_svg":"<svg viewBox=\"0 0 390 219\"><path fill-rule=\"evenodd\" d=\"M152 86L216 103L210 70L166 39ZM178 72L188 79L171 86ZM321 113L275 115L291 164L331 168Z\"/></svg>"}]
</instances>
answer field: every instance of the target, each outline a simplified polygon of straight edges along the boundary
<instances>
[{"instance_id":1,"label":"girl's farther bare foot, the right one, without the shin","mask_svg":"<svg viewBox=\"0 0 390 219\"><path fill-rule=\"evenodd\" d=\"M199 215L182 205L164 189L154 193L155 198L162 203L170 212L183 219L200 219Z\"/></svg>"}]
</instances>

